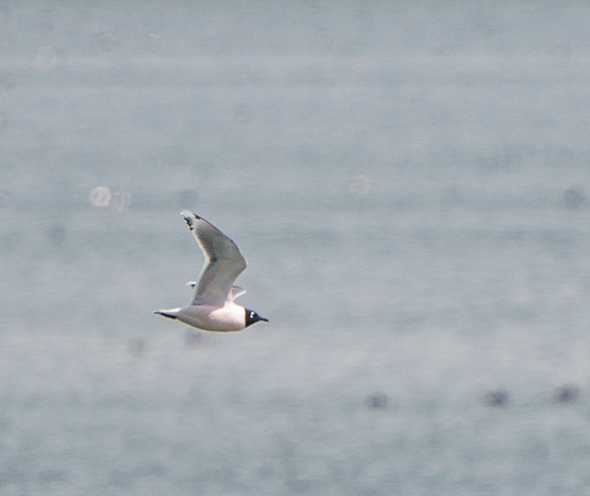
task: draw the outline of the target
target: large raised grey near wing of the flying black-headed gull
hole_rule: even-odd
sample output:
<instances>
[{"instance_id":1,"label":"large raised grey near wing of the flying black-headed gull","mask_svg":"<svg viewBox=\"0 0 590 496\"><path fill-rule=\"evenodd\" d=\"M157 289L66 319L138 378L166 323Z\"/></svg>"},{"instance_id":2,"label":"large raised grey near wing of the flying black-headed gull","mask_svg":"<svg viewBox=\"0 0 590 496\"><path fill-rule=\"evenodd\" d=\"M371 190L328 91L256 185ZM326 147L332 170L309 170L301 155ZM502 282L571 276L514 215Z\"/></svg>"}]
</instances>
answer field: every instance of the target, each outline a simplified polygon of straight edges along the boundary
<instances>
[{"instance_id":1,"label":"large raised grey near wing of the flying black-headed gull","mask_svg":"<svg viewBox=\"0 0 590 496\"><path fill-rule=\"evenodd\" d=\"M237 245L213 224L188 210L181 214L206 259L191 305L223 306L246 261Z\"/></svg>"}]
</instances>

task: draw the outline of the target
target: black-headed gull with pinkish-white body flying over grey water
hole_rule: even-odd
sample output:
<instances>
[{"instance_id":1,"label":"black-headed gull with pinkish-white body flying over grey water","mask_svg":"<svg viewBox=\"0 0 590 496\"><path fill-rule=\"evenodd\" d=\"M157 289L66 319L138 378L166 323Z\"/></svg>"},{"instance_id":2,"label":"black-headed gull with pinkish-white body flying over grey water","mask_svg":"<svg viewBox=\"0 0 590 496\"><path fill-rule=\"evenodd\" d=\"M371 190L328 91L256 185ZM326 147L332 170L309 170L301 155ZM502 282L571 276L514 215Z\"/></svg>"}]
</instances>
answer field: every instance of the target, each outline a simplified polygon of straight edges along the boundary
<instances>
[{"instance_id":1,"label":"black-headed gull with pinkish-white body flying over grey water","mask_svg":"<svg viewBox=\"0 0 590 496\"><path fill-rule=\"evenodd\" d=\"M246 292L233 285L246 268L246 261L237 244L197 214L182 210L181 216L203 250L205 264L198 282L186 283L195 288L189 305L152 313L178 319L204 331L241 331L256 322L268 322L257 312L234 303L238 296Z\"/></svg>"}]
</instances>

